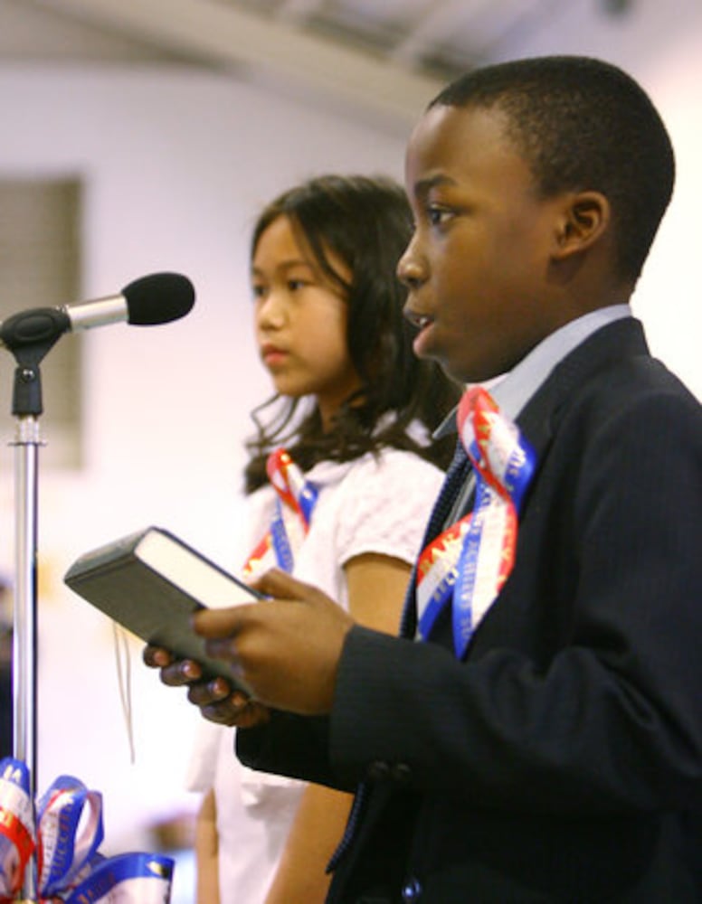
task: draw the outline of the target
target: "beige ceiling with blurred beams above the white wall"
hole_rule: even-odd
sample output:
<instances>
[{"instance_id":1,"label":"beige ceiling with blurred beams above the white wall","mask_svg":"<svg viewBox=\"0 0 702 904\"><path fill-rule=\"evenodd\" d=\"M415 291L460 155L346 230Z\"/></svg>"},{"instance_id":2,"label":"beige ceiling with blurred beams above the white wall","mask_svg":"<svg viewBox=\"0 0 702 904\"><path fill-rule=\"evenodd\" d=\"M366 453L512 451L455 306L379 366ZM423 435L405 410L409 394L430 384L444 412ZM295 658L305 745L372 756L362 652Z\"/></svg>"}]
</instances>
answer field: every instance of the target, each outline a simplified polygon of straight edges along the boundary
<instances>
[{"instance_id":1,"label":"beige ceiling with blurred beams above the white wall","mask_svg":"<svg viewBox=\"0 0 702 904\"><path fill-rule=\"evenodd\" d=\"M459 71L546 33L616 41L656 7L669 10L659 0L0 0L0 62L177 61L405 122Z\"/></svg>"}]
</instances>

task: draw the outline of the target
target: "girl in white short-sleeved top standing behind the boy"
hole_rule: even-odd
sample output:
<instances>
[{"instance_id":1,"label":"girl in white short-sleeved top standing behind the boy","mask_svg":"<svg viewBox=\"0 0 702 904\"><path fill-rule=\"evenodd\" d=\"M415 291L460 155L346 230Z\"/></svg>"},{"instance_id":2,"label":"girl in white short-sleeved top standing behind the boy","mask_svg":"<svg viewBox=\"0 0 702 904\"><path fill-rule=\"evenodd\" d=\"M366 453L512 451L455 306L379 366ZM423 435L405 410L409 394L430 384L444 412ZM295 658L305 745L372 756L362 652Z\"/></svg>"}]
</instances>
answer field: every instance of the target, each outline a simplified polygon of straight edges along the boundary
<instances>
[{"instance_id":1,"label":"girl in white short-sleeved top standing behind the boy","mask_svg":"<svg viewBox=\"0 0 702 904\"><path fill-rule=\"evenodd\" d=\"M394 275L410 231L398 185L325 176L270 203L251 240L256 341L276 394L247 445L244 574L292 571L393 633L453 447L432 430L459 397L412 353ZM231 729L202 732L199 904L322 901L350 797L251 772Z\"/></svg>"}]
</instances>

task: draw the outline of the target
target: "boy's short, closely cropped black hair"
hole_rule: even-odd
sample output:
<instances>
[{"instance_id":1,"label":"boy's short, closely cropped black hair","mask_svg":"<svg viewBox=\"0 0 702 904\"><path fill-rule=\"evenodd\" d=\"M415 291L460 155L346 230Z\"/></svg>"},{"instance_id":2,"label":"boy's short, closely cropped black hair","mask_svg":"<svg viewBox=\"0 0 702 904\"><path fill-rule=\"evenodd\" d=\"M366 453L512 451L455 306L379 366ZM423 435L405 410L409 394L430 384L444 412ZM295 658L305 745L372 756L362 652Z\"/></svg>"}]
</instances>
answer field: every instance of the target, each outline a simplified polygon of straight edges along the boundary
<instances>
[{"instance_id":1,"label":"boy's short, closely cropped black hair","mask_svg":"<svg viewBox=\"0 0 702 904\"><path fill-rule=\"evenodd\" d=\"M429 107L497 108L545 196L598 191L612 205L617 275L636 280L675 180L670 138L649 96L612 63L547 56L460 76Z\"/></svg>"}]
</instances>

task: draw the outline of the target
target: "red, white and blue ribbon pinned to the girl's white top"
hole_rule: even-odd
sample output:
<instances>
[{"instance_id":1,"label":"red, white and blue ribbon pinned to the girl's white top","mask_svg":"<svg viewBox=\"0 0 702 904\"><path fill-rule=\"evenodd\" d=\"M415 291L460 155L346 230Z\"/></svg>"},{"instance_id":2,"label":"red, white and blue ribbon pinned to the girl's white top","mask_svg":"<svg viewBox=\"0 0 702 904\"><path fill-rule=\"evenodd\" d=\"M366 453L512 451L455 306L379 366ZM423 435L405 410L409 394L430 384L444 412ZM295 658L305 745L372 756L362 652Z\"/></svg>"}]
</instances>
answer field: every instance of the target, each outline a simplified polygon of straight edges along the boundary
<instances>
[{"instance_id":1,"label":"red, white and blue ribbon pinned to the girl's white top","mask_svg":"<svg viewBox=\"0 0 702 904\"><path fill-rule=\"evenodd\" d=\"M289 573L293 570L295 552L305 539L317 504L317 487L305 479L285 449L270 453L266 469L277 494L275 511L270 529L243 567L245 579L273 567Z\"/></svg>"}]
</instances>

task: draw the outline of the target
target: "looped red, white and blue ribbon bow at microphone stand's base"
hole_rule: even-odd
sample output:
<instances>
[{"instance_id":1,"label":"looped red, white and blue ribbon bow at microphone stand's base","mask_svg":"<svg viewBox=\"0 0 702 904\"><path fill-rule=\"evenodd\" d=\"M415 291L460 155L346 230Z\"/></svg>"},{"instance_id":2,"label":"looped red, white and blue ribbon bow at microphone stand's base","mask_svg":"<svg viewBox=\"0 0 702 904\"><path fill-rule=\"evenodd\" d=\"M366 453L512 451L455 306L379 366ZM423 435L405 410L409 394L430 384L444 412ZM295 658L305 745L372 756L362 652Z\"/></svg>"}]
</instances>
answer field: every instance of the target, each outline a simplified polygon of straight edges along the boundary
<instances>
[{"instance_id":1,"label":"looped red, white and blue ribbon bow at microphone stand's base","mask_svg":"<svg viewBox=\"0 0 702 904\"><path fill-rule=\"evenodd\" d=\"M77 778L61 776L34 807L29 771L0 760L0 902L10 904L24 885L33 853L41 904L168 904L174 862L134 852L103 857L102 796Z\"/></svg>"}]
</instances>

